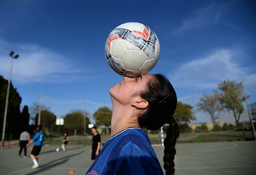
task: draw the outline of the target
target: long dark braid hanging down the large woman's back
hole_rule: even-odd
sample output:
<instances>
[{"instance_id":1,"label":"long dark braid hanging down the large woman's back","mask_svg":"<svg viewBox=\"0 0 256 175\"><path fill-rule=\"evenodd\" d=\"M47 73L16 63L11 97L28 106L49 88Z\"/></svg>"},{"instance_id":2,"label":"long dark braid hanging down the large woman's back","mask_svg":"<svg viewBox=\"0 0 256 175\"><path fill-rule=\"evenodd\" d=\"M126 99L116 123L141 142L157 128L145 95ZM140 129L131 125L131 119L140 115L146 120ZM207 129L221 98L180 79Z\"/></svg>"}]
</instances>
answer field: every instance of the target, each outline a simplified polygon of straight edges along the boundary
<instances>
[{"instance_id":1,"label":"long dark braid hanging down the large woman's back","mask_svg":"<svg viewBox=\"0 0 256 175\"><path fill-rule=\"evenodd\" d=\"M176 154L176 140L178 136L180 135L180 127L175 122L172 125L169 125L166 138L164 140L164 169L166 175L173 175L175 172L174 166L174 155Z\"/></svg>"}]
</instances>

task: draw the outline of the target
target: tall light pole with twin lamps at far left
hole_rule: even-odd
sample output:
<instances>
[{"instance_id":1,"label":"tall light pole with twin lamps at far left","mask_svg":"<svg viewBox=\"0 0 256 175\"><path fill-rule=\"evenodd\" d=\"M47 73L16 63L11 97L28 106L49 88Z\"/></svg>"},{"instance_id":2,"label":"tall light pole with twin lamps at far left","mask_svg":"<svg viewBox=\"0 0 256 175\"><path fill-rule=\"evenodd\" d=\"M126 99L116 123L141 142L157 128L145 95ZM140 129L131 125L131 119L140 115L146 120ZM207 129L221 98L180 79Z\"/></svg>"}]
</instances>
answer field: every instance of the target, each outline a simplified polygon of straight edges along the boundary
<instances>
[{"instance_id":1,"label":"tall light pole with twin lamps at far left","mask_svg":"<svg viewBox=\"0 0 256 175\"><path fill-rule=\"evenodd\" d=\"M14 51L11 51L9 53L9 56L12 57L12 62L11 62L11 69L10 69L10 76L8 80L8 87L7 87L7 94L6 94L6 102L5 102L5 110L4 110L4 124L3 124L3 134L2 134L2 148L4 148L4 136L5 136L5 125L6 125L6 116L7 116L7 109L8 109L8 98L9 98L9 91L10 91L10 84L11 84L11 76L12 76L12 63L13 59L18 59L19 54L14 55Z\"/></svg>"}]
</instances>

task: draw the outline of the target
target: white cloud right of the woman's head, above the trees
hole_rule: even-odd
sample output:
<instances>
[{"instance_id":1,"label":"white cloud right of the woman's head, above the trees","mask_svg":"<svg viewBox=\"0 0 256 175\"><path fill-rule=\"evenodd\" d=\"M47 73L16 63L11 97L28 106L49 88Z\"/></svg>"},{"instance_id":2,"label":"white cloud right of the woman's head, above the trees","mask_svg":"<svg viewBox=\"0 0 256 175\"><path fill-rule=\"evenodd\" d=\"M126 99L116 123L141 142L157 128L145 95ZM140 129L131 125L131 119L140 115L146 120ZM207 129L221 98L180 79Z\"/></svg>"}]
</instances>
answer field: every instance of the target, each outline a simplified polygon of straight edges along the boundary
<instances>
[{"instance_id":1,"label":"white cloud right of the woman's head, above the trees","mask_svg":"<svg viewBox=\"0 0 256 175\"><path fill-rule=\"evenodd\" d=\"M236 52L217 50L205 58L184 63L172 77L172 83L180 88L216 89L223 80L241 82L255 86L256 75L249 73L234 59ZM246 71L248 70L248 72Z\"/></svg>"}]
</instances>

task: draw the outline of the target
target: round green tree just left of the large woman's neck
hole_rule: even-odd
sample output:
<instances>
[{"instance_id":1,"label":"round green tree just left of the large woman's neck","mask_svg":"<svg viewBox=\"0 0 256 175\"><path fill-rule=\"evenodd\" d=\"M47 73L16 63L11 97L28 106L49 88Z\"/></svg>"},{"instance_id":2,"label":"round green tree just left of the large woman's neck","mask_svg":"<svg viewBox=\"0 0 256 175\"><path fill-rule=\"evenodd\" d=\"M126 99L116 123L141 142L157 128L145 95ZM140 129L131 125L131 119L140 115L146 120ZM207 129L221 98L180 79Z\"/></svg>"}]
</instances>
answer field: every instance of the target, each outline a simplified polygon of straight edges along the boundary
<instances>
[{"instance_id":1,"label":"round green tree just left of the large woman's neck","mask_svg":"<svg viewBox=\"0 0 256 175\"><path fill-rule=\"evenodd\" d=\"M111 117L112 117L112 110L108 107L101 107L99 108L94 114L93 118L95 122L99 126L106 127L106 135L108 135L108 127L111 125Z\"/></svg>"}]
</instances>

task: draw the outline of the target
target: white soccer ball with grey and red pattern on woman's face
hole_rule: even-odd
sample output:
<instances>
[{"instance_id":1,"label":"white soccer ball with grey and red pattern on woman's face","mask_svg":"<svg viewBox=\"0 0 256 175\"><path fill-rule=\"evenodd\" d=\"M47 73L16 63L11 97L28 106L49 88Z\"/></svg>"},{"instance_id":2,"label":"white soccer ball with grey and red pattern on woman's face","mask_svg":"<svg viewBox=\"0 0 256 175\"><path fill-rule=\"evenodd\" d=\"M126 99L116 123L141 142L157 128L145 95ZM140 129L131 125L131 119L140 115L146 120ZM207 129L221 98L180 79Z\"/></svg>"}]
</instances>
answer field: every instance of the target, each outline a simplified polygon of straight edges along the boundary
<instances>
[{"instance_id":1,"label":"white soccer ball with grey and red pattern on woman's face","mask_svg":"<svg viewBox=\"0 0 256 175\"><path fill-rule=\"evenodd\" d=\"M157 35L137 22L117 26L105 43L108 65L122 76L138 77L148 73L156 66L159 56Z\"/></svg>"}]
</instances>

